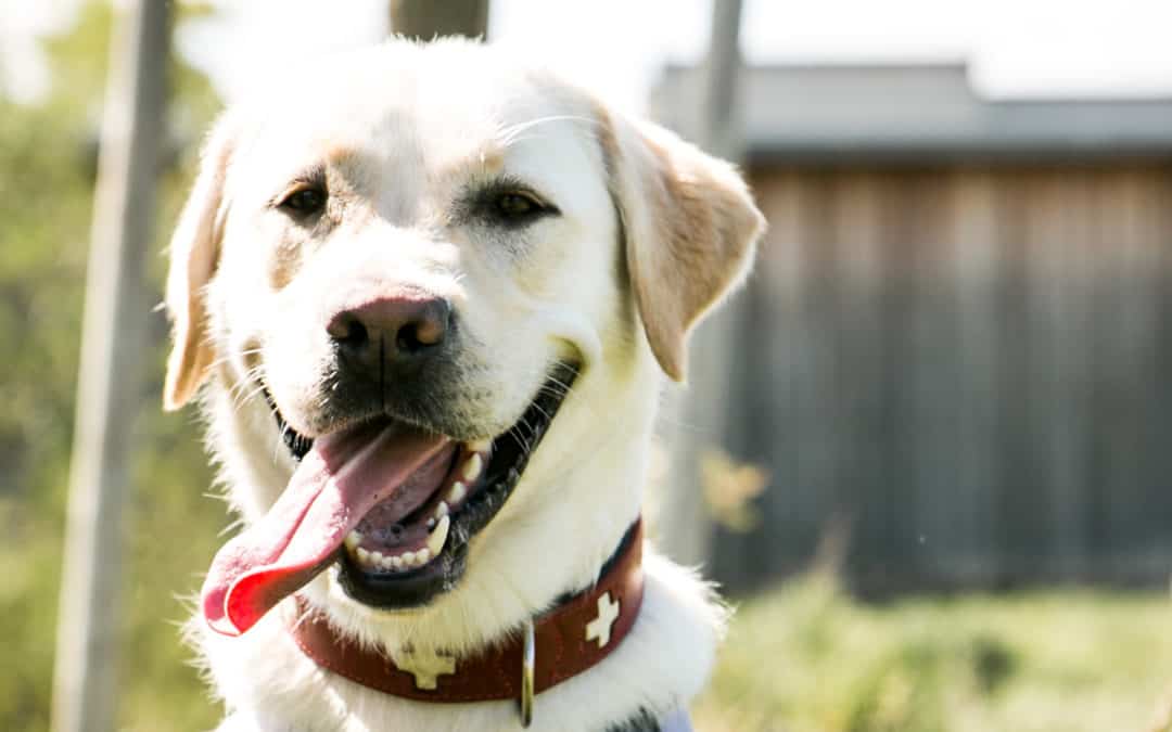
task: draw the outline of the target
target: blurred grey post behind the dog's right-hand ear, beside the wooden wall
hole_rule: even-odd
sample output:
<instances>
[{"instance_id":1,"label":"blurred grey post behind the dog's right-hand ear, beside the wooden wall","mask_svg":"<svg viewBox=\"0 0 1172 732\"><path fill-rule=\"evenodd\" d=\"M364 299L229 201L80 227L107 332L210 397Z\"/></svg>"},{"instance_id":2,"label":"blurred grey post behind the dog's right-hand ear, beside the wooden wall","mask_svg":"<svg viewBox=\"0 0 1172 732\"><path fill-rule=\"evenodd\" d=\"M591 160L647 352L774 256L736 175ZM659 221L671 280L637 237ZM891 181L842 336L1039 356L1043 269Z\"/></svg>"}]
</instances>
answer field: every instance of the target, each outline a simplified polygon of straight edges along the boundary
<instances>
[{"instance_id":1,"label":"blurred grey post behind the dog's right-hand ear, beside the wooden wall","mask_svg":"<svg viewBox=\"0 0 1172 732\"><path fill-rule=\"evenodd\" d=\"M741 0L714 0L711 40L699 100L700 130L695 141L701 148L734 162L740 160L743 146L737 107L740 29ZM687 565L700 565L709 559L711 522L700 481L700 457L706 449L724 443L728 419L734 411L735 405L729 403L728 396L735 331L743 319L740 309L732 300L696 331L690 353L691 382L668 411L674 415L669 419L677 424L669 425L674 433L669 437L668 494L660 525L667 553Z\"/></svg>"}]
</instances>

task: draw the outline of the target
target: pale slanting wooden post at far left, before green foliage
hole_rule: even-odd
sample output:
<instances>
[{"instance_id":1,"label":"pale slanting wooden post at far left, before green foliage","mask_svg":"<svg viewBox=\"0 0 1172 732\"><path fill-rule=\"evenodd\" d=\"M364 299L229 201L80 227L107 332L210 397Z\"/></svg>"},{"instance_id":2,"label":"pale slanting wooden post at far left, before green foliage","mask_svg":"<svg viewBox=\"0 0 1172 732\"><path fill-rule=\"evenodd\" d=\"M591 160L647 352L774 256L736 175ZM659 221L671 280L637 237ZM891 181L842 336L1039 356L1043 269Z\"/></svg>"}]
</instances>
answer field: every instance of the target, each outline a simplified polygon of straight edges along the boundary
<instances>
[{"instance_id":1,"label":"pale slanting wooden post at far left, before green foliage","mask_svg":"<svg viewBox=\"0 0 1172 732\"><path fill-rule=\"evenodd\" d=\"M122 514L142 391L142 280L163 136L165 0L127 0L110 45L59 601L56 732L114 727ZM9 659L11 661L11 659Z\"/></svg>"}]
</instances>

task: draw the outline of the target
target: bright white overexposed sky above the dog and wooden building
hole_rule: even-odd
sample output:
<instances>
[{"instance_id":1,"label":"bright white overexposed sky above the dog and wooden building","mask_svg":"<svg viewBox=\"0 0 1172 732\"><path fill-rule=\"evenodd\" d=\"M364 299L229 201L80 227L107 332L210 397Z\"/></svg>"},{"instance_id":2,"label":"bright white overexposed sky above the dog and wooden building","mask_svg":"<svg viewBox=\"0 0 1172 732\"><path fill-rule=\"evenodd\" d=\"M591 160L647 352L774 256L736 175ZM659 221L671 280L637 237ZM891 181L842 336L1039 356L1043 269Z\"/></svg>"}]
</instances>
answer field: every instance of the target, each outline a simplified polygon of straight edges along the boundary
<instances>
[{"instance_id":1,"label":"bright white overexposed sky above the dog and wooden building","mask_svg":"<svg viewBox=\"0 0 1172 732\"><path fill-rule=\"evenodd\" d=\"M0 0L0 91L35 100L39 36L79 0ZM493 40L523 46L638 109L667 61L696 61L710 0L491 0ZM213 0L176 45L231 100L299 59L375 41L387 0ZM744 0L750 63L968 60L982 94L1172 96L1172 0Z\"/></svg>"}]
</instances>

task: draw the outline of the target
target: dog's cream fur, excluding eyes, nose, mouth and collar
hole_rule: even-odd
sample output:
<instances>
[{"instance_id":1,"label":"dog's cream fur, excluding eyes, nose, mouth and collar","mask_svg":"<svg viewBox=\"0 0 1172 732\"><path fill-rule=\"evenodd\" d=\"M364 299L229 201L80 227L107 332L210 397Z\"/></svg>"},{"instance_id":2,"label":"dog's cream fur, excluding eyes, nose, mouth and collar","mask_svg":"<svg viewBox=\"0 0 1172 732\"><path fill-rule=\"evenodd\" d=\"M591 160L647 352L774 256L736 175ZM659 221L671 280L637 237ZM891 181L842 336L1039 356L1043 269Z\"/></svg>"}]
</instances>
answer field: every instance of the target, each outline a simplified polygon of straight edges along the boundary
<instances>
[{"instance_id":1,"label":"dog's cream fur, excluding eyes, nose, mouth and collar","mask_svg":"<svg viewBox=\"0 0 1172 732\"><path fill-rule=\"evenodd\" d=\"M688 331L744 276L762 220L724 163L503 52L394 41L311 66L291 64L295 83L231 110L210 139L172 242L165 403L205 386L222 481L251 522L294 468L255 378L316 435L328 355L315 334L339 299L409 285L454 303L475 336L459 356L475 376L450 406L479 433L461 439L499 433L551 363L580 363L455 590L395 613L349 598L333 569L304 590L364 642L472 651L590 584L639 515L662 372L682 378ZM328 235L268 205L321 162L339 171ZM454 227L461 186L502 172L560 216L522 233ZM601 732L701 689L723 610L691 573L650 552L645 566L631 635L540 695L531 728ZM238 638L193 621L223 730L519 728L512 703L415 703L321 671L286 636L291 611L286 601Z\"/></svg>"}]
</instances>

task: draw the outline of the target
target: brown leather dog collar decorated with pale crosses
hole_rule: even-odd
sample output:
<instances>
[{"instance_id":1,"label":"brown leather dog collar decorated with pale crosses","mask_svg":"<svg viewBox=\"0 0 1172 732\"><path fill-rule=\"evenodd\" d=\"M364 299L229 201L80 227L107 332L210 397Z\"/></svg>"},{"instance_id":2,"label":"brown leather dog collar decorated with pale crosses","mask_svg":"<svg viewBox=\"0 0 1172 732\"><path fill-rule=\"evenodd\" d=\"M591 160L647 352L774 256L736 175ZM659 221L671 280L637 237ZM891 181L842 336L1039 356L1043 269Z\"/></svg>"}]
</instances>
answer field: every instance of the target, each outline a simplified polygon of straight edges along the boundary
<instances>
[{"instance_id":1,"label":"brown leather dog collar decorated with pale crosses","mask_svg":"<svg viewBox=\"0 0 1172 732\"><path fill-rule=\"evenodd\" d=\"M642 546L642 520L635 520L593 587L533 618L537 693L606 658L635 624L643 600ZM289 635L319 666L352 682L420 702L522 698L525 649L517 634L464 658L410 649L388 655L340 635L300 596L297 602L304 620Z\"/></svg>"}]
</instances>

